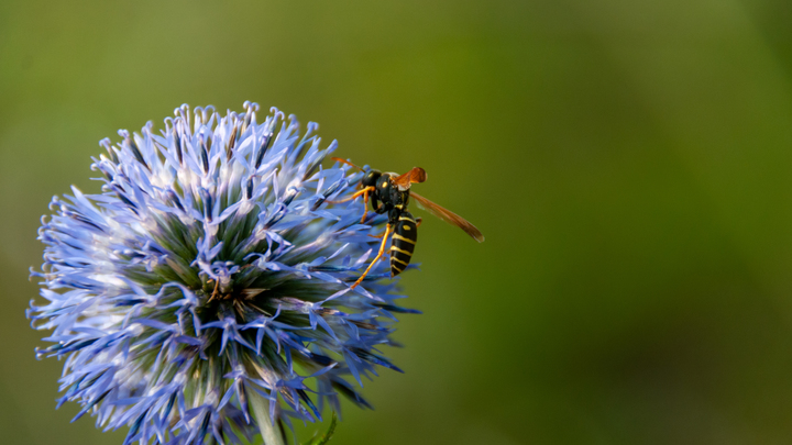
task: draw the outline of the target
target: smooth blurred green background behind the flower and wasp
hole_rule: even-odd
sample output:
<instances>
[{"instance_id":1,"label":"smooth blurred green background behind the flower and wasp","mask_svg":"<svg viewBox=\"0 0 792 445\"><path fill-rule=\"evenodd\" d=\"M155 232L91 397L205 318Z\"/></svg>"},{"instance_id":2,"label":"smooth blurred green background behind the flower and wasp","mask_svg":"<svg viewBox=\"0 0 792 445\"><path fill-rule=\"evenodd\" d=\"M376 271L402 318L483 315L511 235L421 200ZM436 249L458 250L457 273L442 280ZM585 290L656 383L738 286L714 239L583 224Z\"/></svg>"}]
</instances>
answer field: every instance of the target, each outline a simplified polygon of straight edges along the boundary
<instances>
[{"instance_id":1,"label":"smooth blurred green background behind the flower and wasp","mask_svg":"<svg viewBox=\"0 0 792 445\"><path fill-rule=\"evenodd\" d=\"M792 3L0 2L0 442L120 444L55 411L24 318L38 218L97 142L187 102L317 121L429 174L409 307L333 444L792 437ZM416 211L416 213L421 213ZM298 426L301 438L318 427Z\"/></svg>"}]
</instances>

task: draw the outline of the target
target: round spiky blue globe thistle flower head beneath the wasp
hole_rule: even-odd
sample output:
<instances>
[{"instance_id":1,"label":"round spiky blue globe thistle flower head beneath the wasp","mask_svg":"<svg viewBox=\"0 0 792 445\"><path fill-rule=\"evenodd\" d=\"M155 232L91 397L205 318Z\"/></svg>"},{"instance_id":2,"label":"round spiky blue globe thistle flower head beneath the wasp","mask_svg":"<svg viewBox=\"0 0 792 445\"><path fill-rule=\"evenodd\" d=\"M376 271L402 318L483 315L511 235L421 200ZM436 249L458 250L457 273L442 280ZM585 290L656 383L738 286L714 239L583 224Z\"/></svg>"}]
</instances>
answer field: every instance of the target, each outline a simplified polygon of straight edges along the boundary
<instances>
[{"instance_id":1,"label":"round spiky blue globe thistle flower head beneath the wasp","mask_svg":"<svg viewBox=\"0 0 792 445\"><path fill-rule=\"evenodd\" d=\"M129 426L125 443L279 443L339 394L370 408L354 383L400 371L377 347L395 344L394 313L417 311L384 263L350 289L386 218L327 203L361 174L322 168L337 142L321 149L317 124L300 135L294 115L244 108L183 105L158 135L148 122L101 141L101 194L73 187L42 219L47 303L28 315L52 345L37 355L65 358L58 407Z\"/></svg>"}]
</instances>

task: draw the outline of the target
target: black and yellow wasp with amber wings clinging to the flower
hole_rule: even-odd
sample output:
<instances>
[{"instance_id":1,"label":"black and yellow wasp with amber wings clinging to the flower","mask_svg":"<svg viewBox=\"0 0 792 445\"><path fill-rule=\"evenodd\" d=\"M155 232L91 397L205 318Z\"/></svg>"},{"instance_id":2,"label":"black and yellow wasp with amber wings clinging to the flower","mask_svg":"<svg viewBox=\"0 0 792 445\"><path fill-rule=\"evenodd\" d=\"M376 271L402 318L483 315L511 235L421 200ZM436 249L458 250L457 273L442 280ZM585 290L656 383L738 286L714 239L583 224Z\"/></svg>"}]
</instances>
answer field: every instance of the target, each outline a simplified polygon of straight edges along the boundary
<instances>
[{"instance_id":1,"label":"black and yellow wasp with amber wings clinging to the flower","mask_svg":"<svg viewBox=\"0 0 792 445\"><path fill-rule=\"evenodd\" d=\"M435 216L453 224L462 229L466 234L471 235L473 240L477 242L484 241L484 235L471 224L464 218L451 212L450 210L443 209L442 207L429 201L428 199L415 193L410 190L413 183L420 183L426 181L427 174L420 167L414 167L411 170L404 175L397 175L395 173L382 173L380 170L369 169L364 170L361 167L338 157L333 157L342 164L350 165L359 170L365 173L363 179L361 179L361 189L353 193L351 197L341 201L328 201L330 203L341 203L354 200L359 197L363 197L363 218L361 223L365 221L366 214L369 213L369 201L371 200L372 209L378 214L387 212L388 222L385 226L385 233L382 235L382 244L380 245L380 252L376 258L369 265L369 268L363 275L351 286L351 289L358 287L363 278L369 275L372 267L380 260L385 253L385 245L387 244L388 236L391 238L391 277L395 277L410 263L413 258L413 252L415 252L416 243L418 242L418 226L421 223L420 218L416 219L413 214L407 211L407 204L410 198L415 199L418 207L433 214Z\"/></svg>"}]
</instances>

